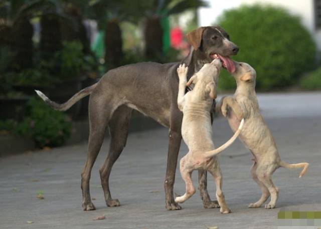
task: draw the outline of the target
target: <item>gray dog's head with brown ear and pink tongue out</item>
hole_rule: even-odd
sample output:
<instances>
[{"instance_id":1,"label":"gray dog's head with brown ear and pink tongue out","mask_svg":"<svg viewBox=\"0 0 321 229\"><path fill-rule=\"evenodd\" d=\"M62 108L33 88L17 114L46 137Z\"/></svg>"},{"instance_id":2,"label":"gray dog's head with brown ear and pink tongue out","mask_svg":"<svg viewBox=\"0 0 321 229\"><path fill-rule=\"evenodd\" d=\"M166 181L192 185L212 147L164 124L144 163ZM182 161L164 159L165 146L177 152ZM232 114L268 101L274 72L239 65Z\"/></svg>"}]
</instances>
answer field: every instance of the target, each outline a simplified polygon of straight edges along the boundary
<instances>
[{"instance_id":1,"label":"gray dog's head with brown ear and pink tongue out","mask_svg":"<svg viewBox=\"0 0 321 229\"><path fill-rule=\"evenodd\" d=\"M230 73L235 71L234 62L230 56L236 55L239 48L230 41L229 35L221 27L200 27L188 33L187 39L194 50L203 54L203 59L208 63L219 58L225 69Z\"/></svg>"}]
</instances>

